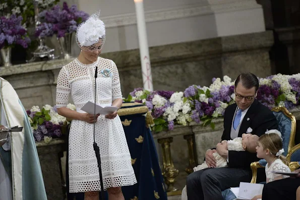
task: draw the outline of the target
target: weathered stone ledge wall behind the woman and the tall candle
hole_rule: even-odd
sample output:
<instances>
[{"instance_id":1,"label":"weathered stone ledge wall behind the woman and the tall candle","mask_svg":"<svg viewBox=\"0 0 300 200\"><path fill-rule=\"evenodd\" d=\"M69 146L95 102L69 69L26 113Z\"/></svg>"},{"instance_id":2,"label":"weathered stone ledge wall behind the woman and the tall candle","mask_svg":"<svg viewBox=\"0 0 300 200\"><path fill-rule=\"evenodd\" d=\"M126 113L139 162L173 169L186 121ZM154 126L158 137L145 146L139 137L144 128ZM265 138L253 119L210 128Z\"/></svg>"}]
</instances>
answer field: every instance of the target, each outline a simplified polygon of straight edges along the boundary
<instances>
[{"instance_id":1,"label":"weathered stone ledge wall behind the woman and the tall candle","mask_svg":"<svg viewBox=\"0 0 300 200\"><path fill-rule=\"evenodd\" d=\"M272 32L266 31L151 47L154 89L184 91L192 84L208 86L213 77L228 75L235 79L245 71L259 77L269 76L268 52L272 44ZM101 56L116 63L124 97L143 86L138 49ZM57 75L71 61L0 67L0 76L13 85L26 109L33 105L54 105Z\"/></svg>"}]
</instances>

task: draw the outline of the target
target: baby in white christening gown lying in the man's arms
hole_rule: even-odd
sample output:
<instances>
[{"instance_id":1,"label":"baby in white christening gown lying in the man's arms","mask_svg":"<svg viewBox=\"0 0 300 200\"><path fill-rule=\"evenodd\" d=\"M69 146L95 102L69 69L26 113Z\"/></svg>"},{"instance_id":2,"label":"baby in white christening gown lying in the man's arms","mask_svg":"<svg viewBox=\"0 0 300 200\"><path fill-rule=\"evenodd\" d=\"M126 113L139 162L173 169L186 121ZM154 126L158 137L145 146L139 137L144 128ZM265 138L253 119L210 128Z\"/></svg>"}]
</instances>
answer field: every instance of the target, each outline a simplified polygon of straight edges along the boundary
<instances>
[{"instance_id":1,"label":"baby in white christening gown lying in the man's arms","mask_svg":"<svg viewBox=\"0 0 300 200\"><path fill-rule=\"evenodd\" d=\"M258 145L258 139L259 139L259 136L257 136L257 135L251 135L249 137L245 137L244 139L242 137L236 137L236 138L228 140L228 141L223 140L220 143L218 143L216 146L218 147L219 145L225 145L226 149L228 151L237 151L237 152L248 151L250 153L256 153L256 146ZM228 166L226 158L221 157L217 152L213 153L212 155L216 159L216 167L217 168ZM202 170L202 169L206 169L206 168L208 168L208 166L207 166L206 162L204 162L201 165L194 167L194 172ZM182 200L188 200L187 186L185 186L182 191Z\"/></svg>"}]
</instances>

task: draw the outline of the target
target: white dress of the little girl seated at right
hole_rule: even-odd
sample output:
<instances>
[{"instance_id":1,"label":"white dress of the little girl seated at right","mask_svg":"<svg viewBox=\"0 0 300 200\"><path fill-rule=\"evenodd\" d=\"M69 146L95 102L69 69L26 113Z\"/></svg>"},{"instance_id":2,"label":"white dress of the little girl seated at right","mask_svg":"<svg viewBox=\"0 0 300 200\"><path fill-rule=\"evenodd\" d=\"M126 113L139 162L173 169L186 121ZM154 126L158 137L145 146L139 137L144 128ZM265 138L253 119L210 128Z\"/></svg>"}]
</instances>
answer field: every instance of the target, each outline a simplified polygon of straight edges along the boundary
<instances>
[{"instance_id":1,"label":"white dress of the little girl seated at right","mask_svg":"<svg viewBox=\"0 0 300 200\"><path fill-rule=\"evenodd\" d=\"M269 167L269 164L267 163L265 171L266 171L267 183L269 183L269 182L274 181L274 179L277 176L282 176L282 178L288 178L289 177L289 176L285 176L285 175L281 175L281 174L272 173L272 171L290 172L290 169L280 159L276 159L270 165L270 167Z\"/></svg>"}]
</instances>

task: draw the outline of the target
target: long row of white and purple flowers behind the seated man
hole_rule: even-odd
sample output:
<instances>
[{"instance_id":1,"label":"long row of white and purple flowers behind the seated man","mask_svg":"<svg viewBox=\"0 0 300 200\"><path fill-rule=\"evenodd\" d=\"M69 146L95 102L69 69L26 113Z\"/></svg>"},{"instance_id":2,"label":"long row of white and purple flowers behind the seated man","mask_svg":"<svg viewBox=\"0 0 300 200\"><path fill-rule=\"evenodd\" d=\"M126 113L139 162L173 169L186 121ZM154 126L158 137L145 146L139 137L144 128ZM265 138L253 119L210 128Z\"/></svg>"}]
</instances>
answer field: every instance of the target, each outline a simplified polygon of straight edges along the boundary
<instances>
[{"instance_id":1,"label":"long row of white and purple flowers behind the seated man","mask_svg":"<svg viewBox=\"0 0 300 200\"><path fill-rule=\"evenodd\" d=\"M268 108L284 106L292 109L300 105L300 74L277 74L259 78L257 92L259 102ZM153 91L142 88L132 91L126 102L145 104L154 118L152 129L156 132L172 130L174 125L188 125L190 122L209 125L214 129L214 118L222 117L228 105L235 102L234 81L224 76L213 78L209 87L191 85L184 92Z\"/></svg>"}]
</instances>

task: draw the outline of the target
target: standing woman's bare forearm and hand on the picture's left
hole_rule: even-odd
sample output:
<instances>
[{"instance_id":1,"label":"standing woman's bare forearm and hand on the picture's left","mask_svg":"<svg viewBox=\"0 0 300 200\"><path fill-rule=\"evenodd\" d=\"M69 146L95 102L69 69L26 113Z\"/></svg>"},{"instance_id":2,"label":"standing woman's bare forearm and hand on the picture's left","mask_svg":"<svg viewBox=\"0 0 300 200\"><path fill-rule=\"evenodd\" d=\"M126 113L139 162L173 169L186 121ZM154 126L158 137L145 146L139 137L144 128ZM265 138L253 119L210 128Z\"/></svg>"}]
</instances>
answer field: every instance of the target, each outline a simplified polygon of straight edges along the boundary
<instances>
[{"instance_id":1,"label":"standing woman's bare forearm and hand on the picture's left","mask_svg":"<svg viewBox=\"0 0 300 200\"><path fill-rule=\"evenodd\" d=\"M94 123L94 115L89 114L89 113L79 113L77 111L73 111L71 109L68 109L66 107L62 107L62 108L58 108L57 109L57 113L59 115L62 115L66 118L72 119L72 120L81 120L81 121L85 121L88 123ZM96 115L96 120L99 117L99 114Z\"/></svg>"}]
</instances>

